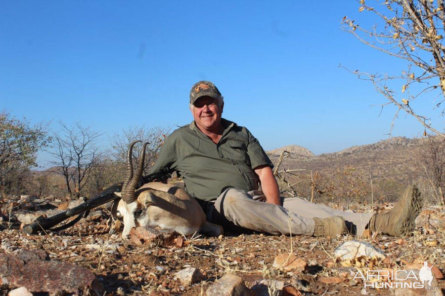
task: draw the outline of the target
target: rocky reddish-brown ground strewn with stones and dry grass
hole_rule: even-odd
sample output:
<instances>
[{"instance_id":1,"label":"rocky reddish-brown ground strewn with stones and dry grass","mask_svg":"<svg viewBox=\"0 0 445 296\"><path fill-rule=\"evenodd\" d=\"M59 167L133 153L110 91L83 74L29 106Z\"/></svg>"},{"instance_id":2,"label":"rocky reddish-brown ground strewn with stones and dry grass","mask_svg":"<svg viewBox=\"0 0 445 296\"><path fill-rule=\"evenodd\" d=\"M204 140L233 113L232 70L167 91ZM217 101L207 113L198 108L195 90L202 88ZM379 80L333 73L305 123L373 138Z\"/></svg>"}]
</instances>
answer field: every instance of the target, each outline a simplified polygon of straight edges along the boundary
<instances>
[{"instance_id":1,"label":"rocky reddish-brown ground strewn with stones and dry grass","mask_svg":"<svg viewBox=\"0 0 445 296\"><path fill-rule=\"evenodd\" d=\"M439 207L426 207L413 235L405 238L230 233L182 237L138 229L131 240L123 241L119 234L108 234L106 207L60 232L28 235L21 230L29 220L79 202L68 205L26 196L3 202L1 295L26 295L26 289L10 292L22 286L34 295L406 296L419 291L442 295L441 290L364 289L361 279L354 280L357 271L365 274L386 268L418 272L424 260L436 262L432 268L437 278L434 284L445 289L445 211ZM391 205L382 207L387 210ZM345 242L354 244L351 241L355 239L369 243L361 246L365 252L376 253L338 258L339 250L336 253L335 249Z\"/></svg>"}]
</instances>

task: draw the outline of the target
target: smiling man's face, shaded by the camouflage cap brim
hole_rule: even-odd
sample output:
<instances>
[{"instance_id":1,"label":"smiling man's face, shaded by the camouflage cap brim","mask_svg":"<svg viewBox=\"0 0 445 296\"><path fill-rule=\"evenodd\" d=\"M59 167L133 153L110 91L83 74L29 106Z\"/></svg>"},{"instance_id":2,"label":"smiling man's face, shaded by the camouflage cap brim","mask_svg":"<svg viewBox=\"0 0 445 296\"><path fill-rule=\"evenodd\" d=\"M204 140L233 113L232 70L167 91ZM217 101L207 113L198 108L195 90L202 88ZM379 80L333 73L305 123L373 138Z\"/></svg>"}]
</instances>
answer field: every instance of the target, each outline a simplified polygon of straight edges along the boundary
<instances>
[{"instance_id":1,"label":"smiling man's face, shaded by the camouflage cap brim","mask_svg":"<svg viewBox=\"0 0 445 296\"><path fill-rule=\"evenodd\" d=\"M222 104L224 105L224 104ZM202 129L218 129L221 124L223 106L218 105L218 100L211 97L201 97L195 101L192 110L196 125Z\"/></svg>"}]
</instances>

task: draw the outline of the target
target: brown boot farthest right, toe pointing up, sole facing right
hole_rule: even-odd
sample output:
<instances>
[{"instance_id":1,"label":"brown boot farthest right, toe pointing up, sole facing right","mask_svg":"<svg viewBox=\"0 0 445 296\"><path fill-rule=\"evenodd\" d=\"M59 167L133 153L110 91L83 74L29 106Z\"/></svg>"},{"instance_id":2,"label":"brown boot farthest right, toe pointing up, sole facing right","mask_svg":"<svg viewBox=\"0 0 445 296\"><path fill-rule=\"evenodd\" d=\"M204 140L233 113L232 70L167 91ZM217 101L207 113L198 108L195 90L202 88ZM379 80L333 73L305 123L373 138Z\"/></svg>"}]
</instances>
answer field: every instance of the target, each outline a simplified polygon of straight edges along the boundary
<instances>
[{"instance_id":1,"label":"brown boot farthest right, toe pointing up, sole facing right","mask_svg":"<svg viewBox=\"0 0 445 296\"><path fill-rule=\"evenodd\" d=\"M403 196L386 214L374 214L369 222L371 232L406 236L415 228L414 220L422 210L422 198L415 185L406 187Z\"/></svg>"}]
</instances>

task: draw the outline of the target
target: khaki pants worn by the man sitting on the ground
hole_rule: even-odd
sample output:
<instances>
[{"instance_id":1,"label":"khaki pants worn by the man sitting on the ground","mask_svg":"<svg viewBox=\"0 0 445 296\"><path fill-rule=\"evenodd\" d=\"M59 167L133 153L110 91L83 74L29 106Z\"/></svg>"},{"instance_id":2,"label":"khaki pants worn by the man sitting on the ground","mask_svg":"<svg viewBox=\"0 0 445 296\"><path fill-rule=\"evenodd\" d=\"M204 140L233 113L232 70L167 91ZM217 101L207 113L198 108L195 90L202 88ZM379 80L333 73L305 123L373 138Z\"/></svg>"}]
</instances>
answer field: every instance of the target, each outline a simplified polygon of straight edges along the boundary
<instances>
[{"instance_id":1,"label":"khaki pants worn by the man sitting on the ground","mask_svg":"<svg viewBox=\"0 0 445 296\"><path fill-rule=\"evenodd\" d=\"M270 234L312 235L315 225L312 218L341 216L349 232L361 236L373 215L343 212L298 197L281 197L283 206L265 201L260 190L246 192L234 188L223 191L215 202L198 200L207 220L222 225L226 231L247 228Z\"/></svg>"}]
</instances>

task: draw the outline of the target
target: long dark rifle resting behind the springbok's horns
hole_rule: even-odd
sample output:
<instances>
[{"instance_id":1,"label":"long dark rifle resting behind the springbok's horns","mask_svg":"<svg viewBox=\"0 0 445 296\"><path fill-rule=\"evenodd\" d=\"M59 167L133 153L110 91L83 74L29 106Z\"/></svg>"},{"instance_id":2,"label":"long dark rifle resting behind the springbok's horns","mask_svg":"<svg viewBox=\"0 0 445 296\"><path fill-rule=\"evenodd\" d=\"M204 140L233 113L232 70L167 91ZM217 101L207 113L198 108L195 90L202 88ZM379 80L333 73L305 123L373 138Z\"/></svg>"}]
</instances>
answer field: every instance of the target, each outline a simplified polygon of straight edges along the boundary
<instances>
[{"instance_id":1,"label":"long dark rifle resting behind the springbok's horns","mask_svg":"<svg viewBox=\"0 0 445 296\"><path fill-rule=\"evenodd\" d=\"M143 176L142 178L140 178L139 183L136 185L136 188L139 188L145 183L153 182L155 180L159 180L162 179L163 177L169 177L169 176L170 176L169 169L163 168L159 172L149 174L147 176ZM28 224L25 227L23 227L23 231L28 234L37 234L41 230L59 231L71 227L72 225L76 224L79 220L81 220L82 216L87 217L89 214L89 210L101 206L103 204L106 204L107 202L110 202L112 200L119 199L120 197L114 193L120 192L122 190L122 185L123 182L111 185L110 187L103 190L99 195L90 198L89 200L87 200L86 202L75 208L68 209L62 213L56 214L49 218L39 217L36 219L36 222ZM76 215L78 216L72 221L62 226L52 228L55 225Z\"/></svg>"}]
</instances>

